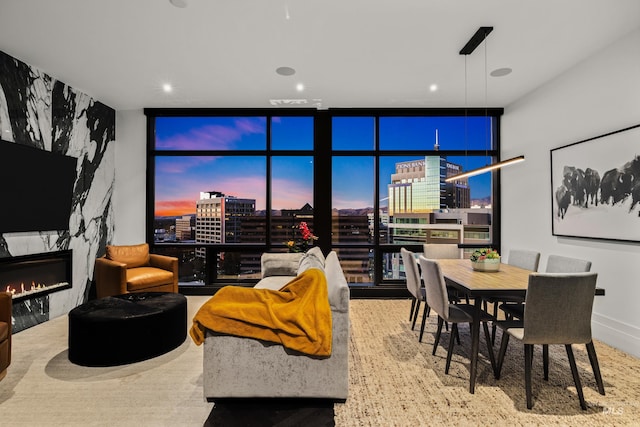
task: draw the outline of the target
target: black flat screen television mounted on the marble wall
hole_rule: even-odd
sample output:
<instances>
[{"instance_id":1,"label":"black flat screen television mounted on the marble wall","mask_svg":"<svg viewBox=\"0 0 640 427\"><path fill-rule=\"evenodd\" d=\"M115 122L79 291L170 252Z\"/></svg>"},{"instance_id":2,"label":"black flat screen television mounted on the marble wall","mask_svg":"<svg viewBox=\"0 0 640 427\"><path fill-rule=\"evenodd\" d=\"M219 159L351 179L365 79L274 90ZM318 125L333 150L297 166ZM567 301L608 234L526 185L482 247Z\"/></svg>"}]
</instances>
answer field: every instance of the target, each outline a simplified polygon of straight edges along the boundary
<instances>
[{"instance_id":1,"label":"black flat screen television mounted on the marble wall","mask_svg":"<svg viewBox=\"0 0 640 427\"><path fill-rule=\"evenodd\" d=\"M68 230L76 163L0 140L0 233Z\"/></svg>"}]
</instances>

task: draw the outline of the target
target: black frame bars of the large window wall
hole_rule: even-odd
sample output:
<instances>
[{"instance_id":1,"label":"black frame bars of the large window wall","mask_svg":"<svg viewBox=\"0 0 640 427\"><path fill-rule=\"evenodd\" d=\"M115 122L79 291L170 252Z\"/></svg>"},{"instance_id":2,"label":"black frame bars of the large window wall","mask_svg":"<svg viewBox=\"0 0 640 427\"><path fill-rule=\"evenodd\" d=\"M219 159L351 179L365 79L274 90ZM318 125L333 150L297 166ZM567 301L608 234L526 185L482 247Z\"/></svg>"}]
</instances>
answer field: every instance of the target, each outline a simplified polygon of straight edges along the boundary
<instances>
[{"instance_id":1,"label":"black frame bars of the large window wall","mask_svg":"<svg viewBox=\"0 0 640 427\"><path fill-rule=\"evenodd\" d=\"M277 156L313 156L314 161L314 190L313 190L313 209L314 209L314 233L319 237L317 246L324 253L328 253L333 249L345 248L367 248L373 251L374 259L374 283L371 287L352 287L352 295L354 296L400 296L404 295L404 281L400 280L384 280L383 278L383 257L388 253L399 253L400 245L398 244L381 244L378 239L373 239L371 243L366 245L340 244L332 243L332 172L331 164L334 157L338 156L373 156L374 157L374 236L378 236L380 232L380 158L384 156L490 156L493 160L500 159L500 119L504 110L502 108L335 108L326 110L316 110L307 108L294 109L156 109L146 108L144 114L147 117L147 204L146 204L146 238L152 247L173 247L189 248L189 247L207 247L206 262L208 271L206 274L206 283L190 289L189 286L181 286L181 291L185 293L210 294L216 289L227 284L251 285L255 280L245 281L220 281L216 277L215 265L216 255L225 251L277 251L284 250L279 244L272 242L269 234L265 237L264 243L256 244L171 244L154 242L153 220L154 220L154 195L155 195L155 169L154 159L156 156L162 155L224 155L224 156L266 156L266 223L267 233L270 233L272 215L271 215L271 158ZM156 117L204 117L204 116L222 116L222 117L266 117L267 146L266 150L238 150L238 151L215 151L215 150L190 150L185 151L163 151L155 148L155 118ZM273 117L285 116L307 116L313 117L314 128L314 146L313 150L272 150L271 149L271 120ZM494 122L494 143L493 147L483 150L380 150L379 120L381 117L491 117ZM331 144L332 140L332 119L334 117L373 117L375 124L375 146L371 150L334 150ZM492 177L492 244L491 246L500 250L500 171L494 170L490 172ZM478 245L462 244L463 248L477 247ZM421 245L408 245L407 249L421 252ZM212 262L213 261L213 262Z\"/></svg>"}]
</instances>

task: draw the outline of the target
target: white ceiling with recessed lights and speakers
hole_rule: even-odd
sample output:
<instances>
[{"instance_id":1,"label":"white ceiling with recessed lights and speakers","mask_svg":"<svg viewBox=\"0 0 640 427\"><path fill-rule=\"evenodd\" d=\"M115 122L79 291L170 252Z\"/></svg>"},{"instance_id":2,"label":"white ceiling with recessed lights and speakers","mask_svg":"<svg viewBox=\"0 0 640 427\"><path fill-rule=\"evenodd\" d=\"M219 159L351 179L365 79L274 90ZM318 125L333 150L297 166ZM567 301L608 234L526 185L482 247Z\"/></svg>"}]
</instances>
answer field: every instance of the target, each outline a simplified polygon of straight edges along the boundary
<instances>
[{"instance_id":1,"label":"white ceiling with recessed lights and speakers","mask_svg":"<svg viewBox=\"0 0 640 427\"><path fill-rule=\"evenodd\" d=\"M0 0L0 50L118 110L506 107L640 28L638 0L174 2Z\"/></svg>"}]
</instances>

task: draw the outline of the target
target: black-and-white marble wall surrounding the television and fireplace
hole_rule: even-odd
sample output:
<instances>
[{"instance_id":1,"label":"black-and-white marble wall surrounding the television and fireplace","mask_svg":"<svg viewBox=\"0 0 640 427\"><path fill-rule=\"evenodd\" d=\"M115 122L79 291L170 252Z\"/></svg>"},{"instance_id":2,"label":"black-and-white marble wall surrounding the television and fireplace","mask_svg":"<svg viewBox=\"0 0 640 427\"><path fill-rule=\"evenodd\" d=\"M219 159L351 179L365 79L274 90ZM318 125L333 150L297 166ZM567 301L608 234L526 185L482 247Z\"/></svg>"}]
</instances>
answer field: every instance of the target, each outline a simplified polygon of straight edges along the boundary
<instances>
[{"instance_id":1,"label":"black-and-white marble wall surrounding the television and fireplace","mask_svg":"<svg viewBox=\"0 0 640 427\"><path fill-rule=\"evenodd\" d=\"M72 288L15 303L17 332L89 297L94 260L113 236L115 110L0 51L0 135L78 159L68 231L0 233L0 257L73 251Z\"/></svg>"}]
</instances>

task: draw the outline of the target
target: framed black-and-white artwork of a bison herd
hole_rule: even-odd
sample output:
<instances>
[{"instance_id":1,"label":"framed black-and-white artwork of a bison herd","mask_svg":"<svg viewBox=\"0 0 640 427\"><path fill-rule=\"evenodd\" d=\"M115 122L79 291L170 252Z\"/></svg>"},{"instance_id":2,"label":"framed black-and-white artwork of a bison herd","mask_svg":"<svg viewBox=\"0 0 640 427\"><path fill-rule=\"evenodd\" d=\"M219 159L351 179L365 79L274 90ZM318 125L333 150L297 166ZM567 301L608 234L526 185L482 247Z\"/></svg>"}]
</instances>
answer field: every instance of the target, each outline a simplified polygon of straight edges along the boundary
<instances>
[{"instance_id":1,"label":"framed black-and-white artwork of a bison herd","mask_svg":"<svg viewBox=\"0 0 640 427\"><path fill-rule=\"evenodd\" d=\"M554 236L640 242L640 124L551 150Z\"/></svg>"}]
</instances>

